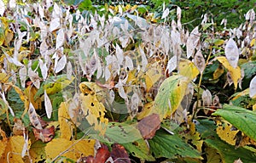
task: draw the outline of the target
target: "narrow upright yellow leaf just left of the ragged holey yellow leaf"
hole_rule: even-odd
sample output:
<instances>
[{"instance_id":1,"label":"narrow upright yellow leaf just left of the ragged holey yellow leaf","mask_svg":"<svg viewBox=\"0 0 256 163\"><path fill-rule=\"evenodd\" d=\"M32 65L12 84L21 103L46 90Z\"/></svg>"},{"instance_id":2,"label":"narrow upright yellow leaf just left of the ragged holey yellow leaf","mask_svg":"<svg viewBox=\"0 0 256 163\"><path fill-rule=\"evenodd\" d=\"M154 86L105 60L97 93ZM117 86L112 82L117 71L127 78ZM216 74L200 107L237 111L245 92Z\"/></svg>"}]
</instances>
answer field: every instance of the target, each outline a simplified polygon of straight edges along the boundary
<instances>
[{"instance_id":1,"label":"narrow upright yellow leaf just left of the ragged holey yellow leaf","mask_svg":"<svg viewBox=\"0 0 256 163\"><path fill-rule=\"evenodd\" d=\"M68 121L70 120L70 116L68 115L67 110L67 103L62 102L58 110L58 121L60 123L61 138L66 138L67 140L70 140L72 136L72 124L68 123Z\"/></svg>"}]
</instances>

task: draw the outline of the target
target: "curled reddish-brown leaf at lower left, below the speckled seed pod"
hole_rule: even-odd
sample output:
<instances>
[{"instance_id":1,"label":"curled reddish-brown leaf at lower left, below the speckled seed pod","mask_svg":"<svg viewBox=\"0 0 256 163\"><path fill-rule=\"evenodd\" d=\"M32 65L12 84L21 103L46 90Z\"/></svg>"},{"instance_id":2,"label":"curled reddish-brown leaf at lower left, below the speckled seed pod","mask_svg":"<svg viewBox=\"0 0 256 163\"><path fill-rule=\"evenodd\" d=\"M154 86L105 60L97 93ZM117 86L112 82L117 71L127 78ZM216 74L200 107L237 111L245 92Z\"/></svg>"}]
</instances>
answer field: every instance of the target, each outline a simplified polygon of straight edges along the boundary
<instances>
[{"instance_id":1,"label":"curled reddish-brown leaf at lower left, below the speckled seed pod","mask_svg":"<svg viewBox=\"0 0 256 163\"><path fill-rule=\"evenodd\" d=\"M33 128L35 138L37 140L42 140L42 142L47 143L55 138L55 126L50 126L49 128L37 129Z\"/></svg>"}]
</instances>

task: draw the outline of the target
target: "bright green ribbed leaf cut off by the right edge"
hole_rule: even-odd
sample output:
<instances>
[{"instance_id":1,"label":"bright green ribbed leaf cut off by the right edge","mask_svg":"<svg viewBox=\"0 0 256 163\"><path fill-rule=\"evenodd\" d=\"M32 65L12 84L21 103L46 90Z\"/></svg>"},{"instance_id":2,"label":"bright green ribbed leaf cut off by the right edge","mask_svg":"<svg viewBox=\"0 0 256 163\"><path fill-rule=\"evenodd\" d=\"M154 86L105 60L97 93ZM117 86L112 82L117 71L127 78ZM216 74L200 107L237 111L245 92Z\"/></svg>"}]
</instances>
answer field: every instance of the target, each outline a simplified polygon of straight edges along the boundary
<instances>
[{"instance_id":1,"label":"bright green ribbed leaf cut off by the right edge","mask_svg":"<svg viewBox=\"0 0 256 163\"><path fill-rule=\"evenodd\" d=\"M256 140L256 125L253 125L256 124L256 112L238 106L224 104L223 109L217 110L212 115L222 116L248 137Z\"/></svg>"}]
</instances>

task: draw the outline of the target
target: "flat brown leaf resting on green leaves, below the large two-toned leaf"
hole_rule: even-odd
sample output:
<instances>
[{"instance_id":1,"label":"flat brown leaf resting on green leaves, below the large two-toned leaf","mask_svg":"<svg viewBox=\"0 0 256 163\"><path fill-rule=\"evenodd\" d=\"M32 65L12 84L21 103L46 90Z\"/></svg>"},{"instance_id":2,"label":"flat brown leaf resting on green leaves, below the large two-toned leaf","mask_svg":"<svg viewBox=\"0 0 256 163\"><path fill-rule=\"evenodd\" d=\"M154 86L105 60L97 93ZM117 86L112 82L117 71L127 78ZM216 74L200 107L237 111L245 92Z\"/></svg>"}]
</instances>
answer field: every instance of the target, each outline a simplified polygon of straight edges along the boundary
<instances>
[{"instance_id":1,"label":"flat brown leaf resting on green leaves, below the large two-toned leaf","mask_svg":"<svg viewBox=\"0 0 256 163\"><path fill-rule=\"evenodd\" d=\"M148 115L137 123L137 127L143 138L153 138L155 132L160 129L160 117L157 114Z\"/></svg>"}]
</instances>

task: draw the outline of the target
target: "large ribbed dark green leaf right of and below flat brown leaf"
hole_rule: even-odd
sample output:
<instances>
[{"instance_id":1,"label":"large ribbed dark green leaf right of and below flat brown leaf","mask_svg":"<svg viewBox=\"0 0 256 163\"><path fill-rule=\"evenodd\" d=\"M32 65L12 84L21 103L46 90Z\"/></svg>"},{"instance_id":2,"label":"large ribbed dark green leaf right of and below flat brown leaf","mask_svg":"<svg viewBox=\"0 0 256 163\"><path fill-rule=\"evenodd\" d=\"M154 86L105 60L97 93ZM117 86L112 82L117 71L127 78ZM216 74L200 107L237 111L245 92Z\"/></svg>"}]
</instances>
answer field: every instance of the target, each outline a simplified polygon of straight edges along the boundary
<instances>
[{"instance_id":1,"label":"large ribbed dark green leaf right of and below flat brown leaf","mask_svg":"<svg viewBox=\"0 0 256 163\"><path fill-rule=\"evenodd\" d=\"M201 158L200 152L193 149L188 143L185 143L177 134L170 135L169 133L159 130L154 138L148 140L151 153L154 157L166 157L169 159L181 157Z\"/></svg>"}]
</instances>

